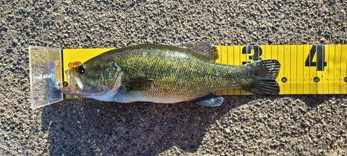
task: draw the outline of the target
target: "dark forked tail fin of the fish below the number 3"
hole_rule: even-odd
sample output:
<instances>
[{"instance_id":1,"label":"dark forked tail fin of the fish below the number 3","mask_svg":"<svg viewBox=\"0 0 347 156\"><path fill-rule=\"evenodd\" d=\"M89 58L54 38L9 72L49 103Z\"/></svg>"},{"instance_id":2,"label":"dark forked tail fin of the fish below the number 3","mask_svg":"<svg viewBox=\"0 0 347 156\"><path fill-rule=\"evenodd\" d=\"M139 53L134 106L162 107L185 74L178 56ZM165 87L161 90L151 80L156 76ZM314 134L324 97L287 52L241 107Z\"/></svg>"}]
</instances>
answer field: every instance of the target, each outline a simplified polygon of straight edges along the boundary
<instances>
[{"instance_id":1,"label":"dark forked tail fin of the fish below the number 3","mask_svg":"<svg viewBox=\"0 0 347 156\"><path fill-rule=\"evenodd\" d=\"M242 89L249 92L262 95L278 95L280 86L276 78L280 71L280 62L278 60L258 60L244 66L249 68L253 83L244 85Z\"/></svg>"}]
</instances>

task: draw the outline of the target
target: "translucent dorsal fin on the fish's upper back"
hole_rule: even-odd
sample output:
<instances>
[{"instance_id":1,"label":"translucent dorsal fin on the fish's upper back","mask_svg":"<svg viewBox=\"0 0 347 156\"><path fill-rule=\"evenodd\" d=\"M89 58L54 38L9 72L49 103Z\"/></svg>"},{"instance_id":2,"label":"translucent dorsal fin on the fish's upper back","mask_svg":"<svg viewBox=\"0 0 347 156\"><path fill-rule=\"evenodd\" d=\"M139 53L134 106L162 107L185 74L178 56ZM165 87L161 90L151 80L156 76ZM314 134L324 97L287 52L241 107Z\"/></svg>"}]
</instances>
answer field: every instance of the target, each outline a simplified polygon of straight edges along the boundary
<instances>
[{"instance_id":1,"label":"translucent dorsal fin on the fish's upper back","mask_svg":"<svg viewBox=\"0 0 347 156\"><path fill-rule=\"evenodd\" d=\"M217 60L218 54L215 46L208 42L194 42L191 44L180 44L178 47L183 49L189 49L203 56L206 60Z\"/></svg>"}]
</instances>

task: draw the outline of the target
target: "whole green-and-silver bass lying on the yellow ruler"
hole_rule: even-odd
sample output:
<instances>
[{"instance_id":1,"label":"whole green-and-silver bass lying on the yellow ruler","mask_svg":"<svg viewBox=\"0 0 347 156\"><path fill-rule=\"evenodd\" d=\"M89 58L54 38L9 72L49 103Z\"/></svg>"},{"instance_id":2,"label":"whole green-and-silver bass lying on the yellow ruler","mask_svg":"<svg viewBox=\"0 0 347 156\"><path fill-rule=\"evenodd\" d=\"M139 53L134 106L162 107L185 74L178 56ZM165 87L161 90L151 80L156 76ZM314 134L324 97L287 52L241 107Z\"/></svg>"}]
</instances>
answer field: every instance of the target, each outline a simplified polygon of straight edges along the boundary
<instances>
[{"instance_id":1,"label":"whole green-and-silver bass lying on the yellow ruler","mask_svg":"<svg viewBox=\"0 0 347 156\"><path fill-rule=\"evenodd\" d=\"M214 62L217 48L208 42L137 44L112 49L65 71L60 92L116 103L180 103L217 107L221 89L278 95L278 60L240 66Z\"/></svg>"}]
</instances>

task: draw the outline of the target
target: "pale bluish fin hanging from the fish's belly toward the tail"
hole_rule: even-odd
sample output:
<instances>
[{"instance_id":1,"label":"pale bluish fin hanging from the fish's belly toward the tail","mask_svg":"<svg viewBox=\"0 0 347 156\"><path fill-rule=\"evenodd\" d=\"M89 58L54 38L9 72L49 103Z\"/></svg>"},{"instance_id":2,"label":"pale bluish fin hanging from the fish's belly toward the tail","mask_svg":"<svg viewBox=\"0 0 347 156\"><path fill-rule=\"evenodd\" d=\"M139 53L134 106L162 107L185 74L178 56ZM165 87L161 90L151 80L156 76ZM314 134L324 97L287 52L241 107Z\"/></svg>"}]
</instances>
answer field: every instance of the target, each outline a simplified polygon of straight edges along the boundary
<instances>
[{"instance_id":1,"label":"pale bluish fin hanging from the fish's belly toward the tail","mask_svg":"<svg viewBox=\"0 0 347 156\"><path fill-rule=\"evenodd\" d=\"M206 107L217 107L221 105L223 101L224 101L223 97L220 97L214 94L209 94L207 96L203 96L202 98L198 98L192 101L192 103L196 103L198 105L204 105Z\"/></svg>"}]
</instances>

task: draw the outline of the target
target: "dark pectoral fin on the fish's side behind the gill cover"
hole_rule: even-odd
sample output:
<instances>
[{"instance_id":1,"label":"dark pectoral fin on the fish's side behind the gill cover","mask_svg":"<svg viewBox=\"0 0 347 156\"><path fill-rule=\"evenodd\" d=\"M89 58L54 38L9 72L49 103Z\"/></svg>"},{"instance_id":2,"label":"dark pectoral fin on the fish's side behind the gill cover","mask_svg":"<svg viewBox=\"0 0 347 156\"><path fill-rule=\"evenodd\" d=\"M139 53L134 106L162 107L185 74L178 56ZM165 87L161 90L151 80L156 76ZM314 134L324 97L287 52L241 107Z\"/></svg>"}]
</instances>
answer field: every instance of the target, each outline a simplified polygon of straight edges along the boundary
<instances>
[{"instance_id":1,"label":"dark pectoral fin on the fish's side behind the gill cover","mask_svg":"<svg viewBox=\"0 0 347 156\"><path fill-rule=\"evenodd\" d=\"M130 90L143 91L143 90L149 89L149 87L151 87L152 82L153 82L153 78L149 78L149 77L135 77L135 78L130 78L128 80L123 81L127 91L130 91Z\"/></svg>"}]
</instances>

